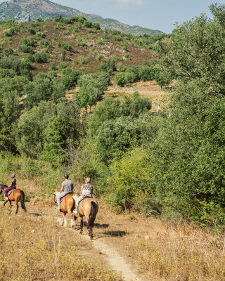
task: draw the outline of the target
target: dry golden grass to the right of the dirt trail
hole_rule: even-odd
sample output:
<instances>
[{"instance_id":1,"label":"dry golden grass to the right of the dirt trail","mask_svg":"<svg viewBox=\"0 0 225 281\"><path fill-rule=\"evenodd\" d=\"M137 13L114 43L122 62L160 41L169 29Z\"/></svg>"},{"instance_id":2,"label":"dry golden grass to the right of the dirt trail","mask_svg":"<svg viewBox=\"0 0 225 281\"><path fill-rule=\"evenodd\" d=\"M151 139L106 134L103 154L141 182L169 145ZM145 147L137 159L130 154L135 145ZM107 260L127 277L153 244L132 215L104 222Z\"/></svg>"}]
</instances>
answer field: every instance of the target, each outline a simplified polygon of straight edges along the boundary
<instances>
[{"instance_id":1,"label":"dry golden grass to the right of the dirt trail","mask_svg":"<svg viewBox=\"0 0 225 281\"><path fill-rule=\"evenodd\" d=\"M95 235L103 236L134 263L143 280L225 280L224 235L215 236L187 223L116 215L108 207L101 208L96 222L103 227L95 228Z\"/></svg>"}]
</instances>

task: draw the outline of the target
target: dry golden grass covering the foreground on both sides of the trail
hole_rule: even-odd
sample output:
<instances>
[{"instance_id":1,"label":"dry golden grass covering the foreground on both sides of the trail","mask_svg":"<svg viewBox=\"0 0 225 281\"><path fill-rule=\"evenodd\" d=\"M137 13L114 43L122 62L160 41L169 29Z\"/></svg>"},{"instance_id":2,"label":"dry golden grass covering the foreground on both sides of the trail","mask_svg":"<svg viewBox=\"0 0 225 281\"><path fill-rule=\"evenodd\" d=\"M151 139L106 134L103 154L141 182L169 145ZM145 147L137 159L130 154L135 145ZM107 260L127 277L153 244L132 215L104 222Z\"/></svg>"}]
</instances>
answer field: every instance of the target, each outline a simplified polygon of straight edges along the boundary
<instances>
[{"instance_id":1,"label":"dry golden grass covering the foreground on both sides of the trail","mask_svg":"<svg viewBox=\"0 0 225 281\"><path fill-rule=\"evenodd\" d=\"M18 180L18 183L25 187L25 195L35 192L38 188L34 184L35 181ZM210 230L201 230L182 221L168 223L139 214L115 214L103 200L99 201L100 209L96 218L94 238L117 249L127 263L133 264L134 269L139 271L141 280L225 280L224 235L215 235ZM10 216L12 225L8 221L7 205L4 211L0 210L0 259L3 261L0 280L7 280L1 278L4 275L8 276L8 280L13 281L68 280L69 276L75 275L78 276L77 278L82 278L79 274L89 276L85 275L88 273L82 269L85 268L86 263L89 263L86 261L86 256L94 256L96 261L99 259L99 253L74 233L58 228L53 207L49 208L51 204L51 197L46 196L45 199L34 197L28 204L28 215L23 215L20 209L19 216ZM30 215L33 212L42 214L41 210L43 210L42 216ZM140 237L135 237L136 234ZM147 235L149 239L145 240L144 237ZM58 259L70 261L69 265L63 261L63 266L68 272L63 273L65 275L60 275L62 266L56 263ZM11 271L14 263L19 268L15 278ZM77 264L81 265L81 268L77 268ZM27 268L31 269L24 273ZM29 279L30 272L34 275L34 279ZM85 279L88 278L85 277L73 280L120 280L111 277L109 271L106 270L107 273L102 271L101 262L94 265L91 263L88 272L96 279ZM57 274L54 275L55 273ZM57 279L59 276L61 279Z\"/></svg>"}]
</instances>

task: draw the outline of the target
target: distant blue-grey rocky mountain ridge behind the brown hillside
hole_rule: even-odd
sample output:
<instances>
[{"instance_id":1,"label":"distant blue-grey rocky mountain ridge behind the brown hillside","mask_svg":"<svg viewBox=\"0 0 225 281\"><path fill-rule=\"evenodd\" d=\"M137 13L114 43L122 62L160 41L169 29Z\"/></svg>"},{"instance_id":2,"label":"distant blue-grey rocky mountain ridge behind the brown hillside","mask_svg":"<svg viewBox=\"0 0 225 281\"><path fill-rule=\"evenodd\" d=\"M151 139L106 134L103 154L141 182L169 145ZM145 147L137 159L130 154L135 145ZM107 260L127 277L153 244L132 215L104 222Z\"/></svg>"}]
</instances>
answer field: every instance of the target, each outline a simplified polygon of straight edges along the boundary
<instances>
[{"instance_id":1,"label":"distant blue-grey rocky mountain ridge behind the brown hillside","mask_svg":"<svg viewBox=\"0 0 225 281\"><path fill-rule=\"evenodd\" d=\"M72 15L83 15L92 22L99 22L102 29L119 30L127 34L163 34L160 30L125 25L117 20L102 18L100 15L82 13L75 8L62 6L49 0L10 0L0 4L0 20L15 19L18 22L30 22L37 18L53 18L58 14L66 18Z\"/></svg>"}]
</instances>

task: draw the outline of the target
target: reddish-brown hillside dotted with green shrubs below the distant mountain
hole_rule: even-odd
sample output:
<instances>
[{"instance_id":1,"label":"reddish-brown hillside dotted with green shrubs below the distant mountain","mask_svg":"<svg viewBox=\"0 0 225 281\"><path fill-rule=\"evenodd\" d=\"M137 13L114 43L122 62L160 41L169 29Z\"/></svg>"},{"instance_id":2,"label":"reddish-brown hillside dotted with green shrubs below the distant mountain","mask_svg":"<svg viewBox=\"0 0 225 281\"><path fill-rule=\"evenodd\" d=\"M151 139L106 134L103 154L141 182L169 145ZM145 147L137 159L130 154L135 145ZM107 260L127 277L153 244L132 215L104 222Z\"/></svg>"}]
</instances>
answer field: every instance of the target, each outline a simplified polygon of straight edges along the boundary
<instances>
[{"instance_id":1,"label":"reddish-brown hillside dotted with green shrubs below the distant mountain","mask_svg":"<svg viewBox=\"0 0 225 281\"><path fill-rule=\"evenodd\" d=\"M10 25L13 25L11 34L8 32ZM45 63L34 61L36 74L48 72L51 61L58 65L62 61L63 52L64 61L68 66L75 66L77 70L85 73L96 72L98 67L110 58L115 58L117 63L122 62L127 67L141 65L143 60L150 61L153 58L153 53L147 46L140 46L143 45L142 39L132 39L125 34L114 34L115 32L104 32L80 25L80 22L74 22L72 25L53 21L19 25L16 22L1 22L2 55L8 55L7 51L4 51L8 48L12 49L13 55L18 58L27 58L32 53L43 51L48 58ZM30 50L21 47L24 45L23 40L21 41L23 37L33 40Z\"/></svg>"}]
</instances>

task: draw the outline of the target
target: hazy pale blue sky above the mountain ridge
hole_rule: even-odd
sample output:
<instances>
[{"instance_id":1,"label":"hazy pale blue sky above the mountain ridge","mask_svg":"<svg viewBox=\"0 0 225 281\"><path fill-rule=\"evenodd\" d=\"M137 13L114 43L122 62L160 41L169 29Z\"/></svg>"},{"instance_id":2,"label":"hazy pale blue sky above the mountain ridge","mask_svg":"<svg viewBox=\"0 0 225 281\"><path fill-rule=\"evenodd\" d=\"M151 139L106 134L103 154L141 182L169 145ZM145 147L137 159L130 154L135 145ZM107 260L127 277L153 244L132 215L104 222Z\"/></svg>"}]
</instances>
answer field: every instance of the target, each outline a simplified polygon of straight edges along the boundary
<instances>
[{"instance_id":1,"label":"hazy pale blue sky above the mountain ridge","mask_svg":"<svg viewBox=\"0 0 225 281\"><path fill-rule=\"evenodd\" d=\"M103 18L115 18L129 25L141 25L169 33L174 22L182 23L200 13L211 16L213 0L54 0L84 13L96 13ZM215 1L214 1L215 2ZM224 0L217 2L225 4Z\"/></svg>"}]
</instances>

